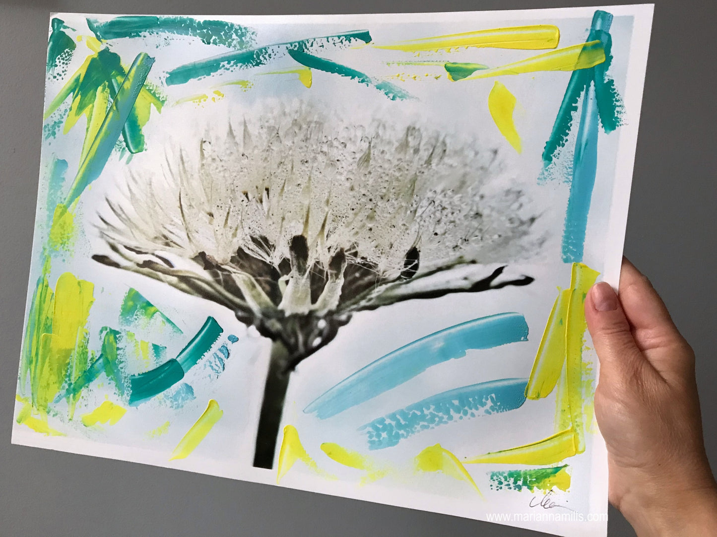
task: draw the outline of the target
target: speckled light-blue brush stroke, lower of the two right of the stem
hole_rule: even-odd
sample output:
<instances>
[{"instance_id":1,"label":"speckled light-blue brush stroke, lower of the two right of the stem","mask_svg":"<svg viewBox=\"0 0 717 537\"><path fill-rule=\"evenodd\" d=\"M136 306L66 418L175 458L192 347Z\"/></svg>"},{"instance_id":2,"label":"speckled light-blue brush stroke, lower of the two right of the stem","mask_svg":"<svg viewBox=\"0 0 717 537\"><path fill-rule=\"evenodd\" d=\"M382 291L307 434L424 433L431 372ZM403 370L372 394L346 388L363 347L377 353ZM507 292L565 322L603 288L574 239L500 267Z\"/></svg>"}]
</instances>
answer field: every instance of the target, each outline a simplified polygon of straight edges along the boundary
<instances>
[{"instance_id":1,"label":"speckled light-blue brush stroke, lower of the two right of the stem","mask_svg":"<svg viewBox=\"0 0 717 537\"><path fill-rule=\"evenodd\" d=\"M444 391L374 419L359 431L366 433L369 450L383 450L440 425L515 410L526 401L526 384L528 379L502 379Z\"/></svg>"}]
</instances>

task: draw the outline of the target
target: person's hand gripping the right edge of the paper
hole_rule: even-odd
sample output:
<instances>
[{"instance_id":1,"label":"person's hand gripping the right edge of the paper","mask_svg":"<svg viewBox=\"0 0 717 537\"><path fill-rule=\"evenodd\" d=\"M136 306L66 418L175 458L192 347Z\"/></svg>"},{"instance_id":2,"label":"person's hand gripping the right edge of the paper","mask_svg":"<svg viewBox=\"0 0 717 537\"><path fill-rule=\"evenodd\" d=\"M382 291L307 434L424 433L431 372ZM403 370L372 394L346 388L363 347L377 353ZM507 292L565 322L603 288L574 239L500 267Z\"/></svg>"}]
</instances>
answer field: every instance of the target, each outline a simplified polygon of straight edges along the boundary
<instances>
[{"instance_id":1,"label":"person's hand gripping the right edge of the paper","mask_svg":"<svg viewBox=\"0 0 717 537\"><path fill-rule=\"evenodd\" d=\"M607 444L609 500L639 537L717 534L695 353L650 281L624 259L619 295L592 287L585 315L600 360L595 414Z\"/></svg>"}]
</instances>

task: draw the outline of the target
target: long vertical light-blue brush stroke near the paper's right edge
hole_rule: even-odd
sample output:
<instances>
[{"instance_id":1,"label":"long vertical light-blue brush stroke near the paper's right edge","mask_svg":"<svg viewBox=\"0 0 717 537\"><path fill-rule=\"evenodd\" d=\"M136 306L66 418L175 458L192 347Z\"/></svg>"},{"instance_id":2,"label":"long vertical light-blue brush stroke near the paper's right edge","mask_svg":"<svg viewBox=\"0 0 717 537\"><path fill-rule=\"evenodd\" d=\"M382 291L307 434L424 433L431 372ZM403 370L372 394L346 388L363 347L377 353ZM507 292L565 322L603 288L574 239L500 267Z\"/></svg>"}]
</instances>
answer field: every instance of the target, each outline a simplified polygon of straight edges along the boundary
<instances>
[{"instance_id":1,"label":"long vertical light-blue brush stroke near the paper's right edge","mask_svg":"<svg viewBox=\"0 0 717 537\"><path fill-rule=\"evenodd\" d=\"M573 180L565 212L562 251L566 263L581 262L583 257L587 217L597 172L597 131L597 98L594 87L590 85L583 100L573 159Z\"/></svg>"}]
</instances>

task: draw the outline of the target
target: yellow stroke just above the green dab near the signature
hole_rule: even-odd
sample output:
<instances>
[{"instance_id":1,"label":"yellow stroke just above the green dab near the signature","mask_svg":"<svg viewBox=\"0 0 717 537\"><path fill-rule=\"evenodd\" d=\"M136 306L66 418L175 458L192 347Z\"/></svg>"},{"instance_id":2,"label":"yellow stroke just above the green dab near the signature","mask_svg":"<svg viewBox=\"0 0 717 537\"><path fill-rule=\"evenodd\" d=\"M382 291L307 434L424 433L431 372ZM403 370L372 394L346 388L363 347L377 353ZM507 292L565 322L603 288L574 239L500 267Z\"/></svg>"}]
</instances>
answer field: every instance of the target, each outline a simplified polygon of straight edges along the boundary
<instances>
[{"instance_id":1,"label":"yellow stroke just above the green dab near the signature","mask_svg":"<svg viewBox=\"0 0 717 537\"><path fill-rule=\"evenodd\" d=\"M494 451L470 457L465 464L518 464L518 465L552 465L578 453L577 434L574 429L567 429L532 444L513 447L510 450Z\"/></svg>"}]
</instances>

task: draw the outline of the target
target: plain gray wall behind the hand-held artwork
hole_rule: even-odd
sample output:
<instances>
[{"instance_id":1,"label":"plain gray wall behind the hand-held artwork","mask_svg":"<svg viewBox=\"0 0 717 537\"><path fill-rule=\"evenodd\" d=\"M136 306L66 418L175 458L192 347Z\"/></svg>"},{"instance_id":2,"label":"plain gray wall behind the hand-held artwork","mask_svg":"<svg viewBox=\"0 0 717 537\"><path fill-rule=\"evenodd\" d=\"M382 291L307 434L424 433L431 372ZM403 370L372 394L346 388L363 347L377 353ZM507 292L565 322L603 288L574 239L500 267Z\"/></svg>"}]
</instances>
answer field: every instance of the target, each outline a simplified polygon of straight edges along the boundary
<instances>
[{"instance_id":1,"label":"plain gray wall behind the hand-held artwork","mask_svg":"<svg viewBox=\"0 0 717 537\"><path fill-rule=\"evenodd\" d=\"M717 467L714 0L655 0L625 254L697 353ZM627 2L617 2L619 4ZM10 444L51 11L320 14L528 9L566 0L0 0L0 536L538 536L358 500ZM611 508L609 535L632 529Z\"/></svg>"}]
</instances>

